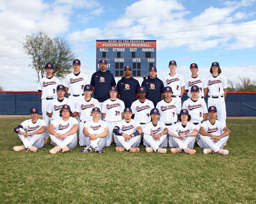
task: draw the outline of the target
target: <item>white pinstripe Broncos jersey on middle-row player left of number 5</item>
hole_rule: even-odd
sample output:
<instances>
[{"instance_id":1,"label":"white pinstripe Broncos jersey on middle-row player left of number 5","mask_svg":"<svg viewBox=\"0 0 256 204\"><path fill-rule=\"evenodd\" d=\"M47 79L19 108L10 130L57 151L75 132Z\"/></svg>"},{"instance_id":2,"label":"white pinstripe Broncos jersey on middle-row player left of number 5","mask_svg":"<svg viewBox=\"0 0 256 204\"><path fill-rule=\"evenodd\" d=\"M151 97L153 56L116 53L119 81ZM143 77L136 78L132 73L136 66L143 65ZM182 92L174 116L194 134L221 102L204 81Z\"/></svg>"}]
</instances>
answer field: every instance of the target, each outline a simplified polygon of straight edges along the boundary
<instances>
[{"instance_id":1,"label":"white pinstripe Broncos jersey on middle-row player left of number 5","mask_svg":"<svg viewBox=\"0 0 256 204\"><path fill-rule=\"evenodd\" d=\"M170 102L165 102L161 100L157 103L156 108L160 112L160 120L164 123L173 123L177 122L177 114L181 111L177 105L176 100L171 100Z\"/></svg>"}]
</instances>

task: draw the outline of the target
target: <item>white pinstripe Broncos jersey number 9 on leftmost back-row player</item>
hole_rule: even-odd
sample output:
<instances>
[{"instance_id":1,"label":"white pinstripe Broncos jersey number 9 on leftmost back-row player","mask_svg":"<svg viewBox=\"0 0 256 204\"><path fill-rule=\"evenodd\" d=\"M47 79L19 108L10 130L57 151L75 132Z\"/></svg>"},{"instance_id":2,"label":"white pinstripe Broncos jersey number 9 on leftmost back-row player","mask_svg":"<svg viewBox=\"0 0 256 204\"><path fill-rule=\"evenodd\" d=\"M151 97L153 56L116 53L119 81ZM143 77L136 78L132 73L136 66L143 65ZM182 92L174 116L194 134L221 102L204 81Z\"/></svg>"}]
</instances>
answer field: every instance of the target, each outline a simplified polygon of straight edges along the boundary
<instances>
[{"instance_id":1,"label":"white pinstripe Broncos jersey number 9 on leftmost back-row player","mask_svg":"<svg viewBox=\"0 0 256 204\"><path fill-rule=\"evenodd\" d=\"M57 98L57 86L60 84L59 79L56 77L46 78L43 77L39 80L38 90L42 91L42 97L44 98Z\"/></svg>"}]
</instances>

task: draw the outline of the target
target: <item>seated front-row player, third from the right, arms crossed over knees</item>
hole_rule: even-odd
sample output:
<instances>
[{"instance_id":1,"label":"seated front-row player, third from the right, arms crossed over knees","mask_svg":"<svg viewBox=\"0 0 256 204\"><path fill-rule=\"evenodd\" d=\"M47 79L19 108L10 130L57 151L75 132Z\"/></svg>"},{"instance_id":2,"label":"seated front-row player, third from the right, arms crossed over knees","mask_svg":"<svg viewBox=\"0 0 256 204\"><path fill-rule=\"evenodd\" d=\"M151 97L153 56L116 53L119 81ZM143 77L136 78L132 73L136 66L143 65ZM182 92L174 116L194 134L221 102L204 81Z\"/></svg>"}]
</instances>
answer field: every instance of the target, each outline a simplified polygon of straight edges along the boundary
<instances>
[{"instance_id":1,"label":"seated front-row player, third from the right, arms crossed over knees","mask_svg":"<svg viewBox=\"0 0 256 204\"><path fill-rule=\"evenodd\" d=\"M165 154L167 152L167 133L168 129L166 128L163 122L158 121L159 118L159 110L152 109L150 111L150 117L152 118L152 122L149 122L143 128L144 140L146 146L146 152L158 152Z\"/></svg>"}]
</instances>

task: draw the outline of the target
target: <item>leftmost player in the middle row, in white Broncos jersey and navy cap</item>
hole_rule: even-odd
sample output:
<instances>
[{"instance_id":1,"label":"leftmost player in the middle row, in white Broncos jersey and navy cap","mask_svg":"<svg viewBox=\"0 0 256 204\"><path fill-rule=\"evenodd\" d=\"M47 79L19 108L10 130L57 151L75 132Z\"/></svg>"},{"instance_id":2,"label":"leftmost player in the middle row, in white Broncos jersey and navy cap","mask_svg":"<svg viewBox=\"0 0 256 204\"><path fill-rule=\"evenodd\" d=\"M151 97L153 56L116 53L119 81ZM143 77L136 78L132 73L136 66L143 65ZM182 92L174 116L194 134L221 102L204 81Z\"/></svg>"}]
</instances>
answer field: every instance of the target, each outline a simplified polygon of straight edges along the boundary
<instances>
[{"instance_id":1,"label":"leftmost player in the middle row, in white Broncos jersey and navy cap","mask_svg":"<svg viewBox=\"0 0 256 204\"><path fill-rule=\"evenodd\" d=\"M70 106L70 110L72 112L72 117L77 116L77 112L75 111L74 105L69 101L68 98L65 98L64 95L65 95L65 86L58 85L57 86L58 98L54 98L53 100L50 100L50 103L47 107L47 112L46 112L46 114L50 118L52 118L52 120L61 118L61 116L59 115L59 110L62 108L63 105Z\"/></svg>"}]
</instances>

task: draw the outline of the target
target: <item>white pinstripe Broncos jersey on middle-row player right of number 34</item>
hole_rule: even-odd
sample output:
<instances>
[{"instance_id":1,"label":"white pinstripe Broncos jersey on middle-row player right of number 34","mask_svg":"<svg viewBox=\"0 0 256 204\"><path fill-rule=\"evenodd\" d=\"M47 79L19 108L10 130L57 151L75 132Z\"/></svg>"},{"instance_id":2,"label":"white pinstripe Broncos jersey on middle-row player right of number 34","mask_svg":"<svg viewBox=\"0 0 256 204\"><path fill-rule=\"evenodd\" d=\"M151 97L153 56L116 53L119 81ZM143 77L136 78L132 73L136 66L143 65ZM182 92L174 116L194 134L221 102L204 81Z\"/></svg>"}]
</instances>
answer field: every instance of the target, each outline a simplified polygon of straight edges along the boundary
<instances>
[{"instance_id":1,"label":"white pinstripe Broncos jersey on middle-row player right of number 34","mask_svg":"<svg viewBox=\"0 0 256 204\"><path fill-rule=\"evenodd\" d=\"M134 120L141 123L148 123L151 121L150 111L154 109L154 104L150 100L140 102L139 99L131 104L131 110L134 114Z\"/></svg>"}]
</instances>

